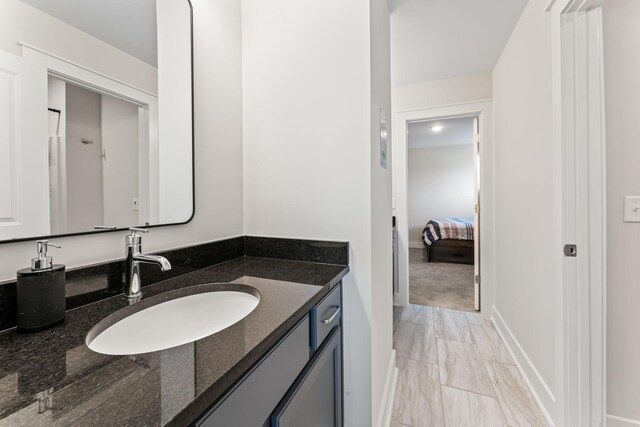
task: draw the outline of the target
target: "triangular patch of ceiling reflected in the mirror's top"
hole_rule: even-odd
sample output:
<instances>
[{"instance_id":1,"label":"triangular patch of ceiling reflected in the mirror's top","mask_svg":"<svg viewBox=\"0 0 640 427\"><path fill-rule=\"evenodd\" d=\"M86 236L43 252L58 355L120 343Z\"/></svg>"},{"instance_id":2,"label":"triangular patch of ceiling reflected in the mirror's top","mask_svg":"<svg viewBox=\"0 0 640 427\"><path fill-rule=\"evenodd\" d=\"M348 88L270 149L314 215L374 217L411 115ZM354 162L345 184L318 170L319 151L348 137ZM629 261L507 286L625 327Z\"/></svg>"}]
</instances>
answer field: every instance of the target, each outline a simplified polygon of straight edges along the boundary
<instances>
[{"instance_id":1,"label":"triangular patch of ceiling reflected in the mirror's top","mask_svg":"<svg viewBox=\"0 0 640 427\"><path fill-rule=\"evenodd\" d=\"M157 67L156 0L22 0Z\"/></svg>"}]
</instances>

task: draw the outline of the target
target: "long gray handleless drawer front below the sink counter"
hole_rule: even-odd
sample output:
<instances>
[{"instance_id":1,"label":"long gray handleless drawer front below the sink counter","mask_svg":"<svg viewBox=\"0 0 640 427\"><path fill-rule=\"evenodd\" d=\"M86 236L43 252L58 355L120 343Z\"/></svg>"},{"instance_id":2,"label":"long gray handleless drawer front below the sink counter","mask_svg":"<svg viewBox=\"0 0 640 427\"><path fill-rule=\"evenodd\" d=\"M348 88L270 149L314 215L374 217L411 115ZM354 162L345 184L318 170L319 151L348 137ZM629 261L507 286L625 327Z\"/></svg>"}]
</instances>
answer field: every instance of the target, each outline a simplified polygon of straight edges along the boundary
<instances>
[{"instance_id":1,"label":"long gray handleless drawer front below the sink counter","mask_svg":"<svg viewBox=\"0 0 640 427\"><path fill-rule=\"evenodd\" d=\"M196 426L262 426L309 361L309 317L210 409Z\"/></svg>"}]
</instances>

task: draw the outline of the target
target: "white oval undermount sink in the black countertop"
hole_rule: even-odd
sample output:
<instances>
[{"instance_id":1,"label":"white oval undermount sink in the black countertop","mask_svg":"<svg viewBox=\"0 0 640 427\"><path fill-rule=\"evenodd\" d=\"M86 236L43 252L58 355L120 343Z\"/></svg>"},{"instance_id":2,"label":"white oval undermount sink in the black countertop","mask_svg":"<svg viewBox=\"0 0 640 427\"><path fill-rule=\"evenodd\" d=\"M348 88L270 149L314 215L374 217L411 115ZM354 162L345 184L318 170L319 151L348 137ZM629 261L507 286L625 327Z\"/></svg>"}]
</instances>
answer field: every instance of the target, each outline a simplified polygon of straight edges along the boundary
<instances>
[{"instance_id":1,"label":"white oval undermount sink in the black countertop","mask_svg":"<svg viewBox=\"0 0 640 427\"><path fill-rule=\"evenodd\" d=\"M231 286L247 290L215 290L211 285L200 285L143 299L98 323L87 335L87 346L102 354L141 354L215 334L244 319L260 301L254 288ZM138 304L140 308L153 305L136 310Z\"/></svg>"}]
</instances>

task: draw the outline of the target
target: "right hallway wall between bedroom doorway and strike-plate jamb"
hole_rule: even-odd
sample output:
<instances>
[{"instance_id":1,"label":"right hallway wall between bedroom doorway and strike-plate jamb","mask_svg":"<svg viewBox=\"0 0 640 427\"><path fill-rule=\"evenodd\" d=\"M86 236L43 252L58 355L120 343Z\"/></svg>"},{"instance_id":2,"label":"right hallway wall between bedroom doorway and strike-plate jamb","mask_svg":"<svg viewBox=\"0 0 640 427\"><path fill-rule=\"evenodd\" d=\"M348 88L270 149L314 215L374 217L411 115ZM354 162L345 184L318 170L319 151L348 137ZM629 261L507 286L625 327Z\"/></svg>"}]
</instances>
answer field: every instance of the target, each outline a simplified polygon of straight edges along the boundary
<instances>
[{"instance_id":1,"label":"right hallway wall between bedroom doorway and strike-plate jamb","mask_svg":"<svg viewBox=\"0 0 640 427\"><path fill-rule=\"evenodd\" d=\"M552 144L547 3L529 1L493 71L494 315L534 392L560 420L561 164Z\"/></svg>"}]
</instances>

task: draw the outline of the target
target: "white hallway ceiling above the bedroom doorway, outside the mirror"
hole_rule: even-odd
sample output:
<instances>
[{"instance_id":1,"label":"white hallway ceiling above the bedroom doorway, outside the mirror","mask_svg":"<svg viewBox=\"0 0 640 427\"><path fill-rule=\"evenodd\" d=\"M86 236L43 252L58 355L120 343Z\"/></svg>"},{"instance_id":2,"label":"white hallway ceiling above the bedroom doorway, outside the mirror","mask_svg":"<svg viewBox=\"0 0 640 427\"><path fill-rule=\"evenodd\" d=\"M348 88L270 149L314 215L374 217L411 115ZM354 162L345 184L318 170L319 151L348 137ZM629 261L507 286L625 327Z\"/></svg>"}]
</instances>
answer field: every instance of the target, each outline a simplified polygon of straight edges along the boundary
<instances>
[{"instance_id":1,"label":"white hallway ceiling above the bedroom doorway, outside the mirror","mask_svg":"<svg viewBox=\"0 0 640 427\"><path fill-rule=\"evenodd\" d=\"M527 0L389 0L393 86L489 72Z\"/></svg>"}]
</instances>

